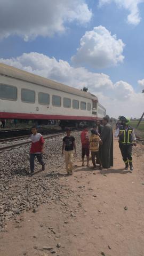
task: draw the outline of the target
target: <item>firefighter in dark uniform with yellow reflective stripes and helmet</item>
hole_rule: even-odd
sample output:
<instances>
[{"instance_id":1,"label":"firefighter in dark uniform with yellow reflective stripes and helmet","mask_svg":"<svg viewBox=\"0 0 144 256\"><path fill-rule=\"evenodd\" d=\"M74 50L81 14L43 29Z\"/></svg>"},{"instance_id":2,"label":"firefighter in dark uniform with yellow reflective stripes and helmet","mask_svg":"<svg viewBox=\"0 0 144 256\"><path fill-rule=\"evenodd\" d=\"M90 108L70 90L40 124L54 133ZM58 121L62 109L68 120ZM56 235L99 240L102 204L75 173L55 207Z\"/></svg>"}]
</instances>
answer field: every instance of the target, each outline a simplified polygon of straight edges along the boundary
<instances>
[{"instance_id":1,"label":"firefighter in dark uniform with yellow reflective stripes and helmet","mask_svg":"<svg viewBox=\"0 0 144 256\"><path fill-rule=\"evenodd\" d=\"M121 116L119 120L121 121L121 126L117 128L115 137L119 137L119 148L125 163L125 170L128 170L130 165L130 170L133 171L132 146L137 146L136 137L133 128L129 125L130 118Z\"/></svg>"}]
</instances>

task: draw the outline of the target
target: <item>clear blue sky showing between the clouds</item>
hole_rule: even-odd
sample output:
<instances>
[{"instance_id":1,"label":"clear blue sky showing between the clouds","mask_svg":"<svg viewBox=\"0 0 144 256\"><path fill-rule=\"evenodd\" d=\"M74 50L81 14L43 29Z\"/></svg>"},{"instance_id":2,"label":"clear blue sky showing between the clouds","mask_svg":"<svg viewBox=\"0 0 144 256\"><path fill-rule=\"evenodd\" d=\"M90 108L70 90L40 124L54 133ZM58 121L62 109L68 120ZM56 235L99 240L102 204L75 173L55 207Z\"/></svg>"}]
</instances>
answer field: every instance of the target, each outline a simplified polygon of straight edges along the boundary
<instances>
[{"instance_id":1,"label":"clear blue sky showing between the clouds","mask_svg":"<svg viewBox=\"0 0 144 256\"><path fill-rule=\"evenodd\" d=\"M70 1L71 0L69 0L69 2ZM74 68L83 67L88 72L94 73L94 74L103 73L110 78L110 81L113 84L119 81L128 83L133 87L134 92L137 93L137 96L138 96L138 93L142 89L142 87L140 87L140 85L138 84L138 81L144 78L144 74L143 74L144 3L141 3L140 5L137 6L139 7L139 17L141 17L141 20L139 22L134 21L135 22L134 23L134 22L127 22L127 15L129 15L129 13L132 10L130 10L130 8L126 9L125 6L121 6L117 4L117 2L119 2L120 0L114 0L114 1L111 0L110 3L105 3L101 7L98 6L99 1L95 1L95 0L89 0L89 1L75 0L75 1L79 4L86 4L87 10L89 10L89 12L91 12L92 14L91 18L87 18L86 21L82 22L80 18L73 17L71 18L73 21L71 22L70 20L69 22L68 18L65 19L66 14L64 13L63 14L64 18L62 17L62 19L65 20L63 21L63 26L65 27L65 29L63 31L56 31L56 33L54 31L54 33L52 33L53 35L49 35L49 33L47 33L47 35L42 35L42 33L38 33L37 31L37 35L34 36L34 38L28 39L26 42L23 39L22 33L20 33L20 27L17 28L17 25L16 25L16 27L11 28L12 26L10 26L10 23L7 21L6 21L7 25L3 25L1 23L0 31L2 31L2 35L5 33L4 36L2 36L0 41L1 61L15 66L15 63L14 63L15 60L17 59L17 57L20 57L23 53L28 53L28 54L31 52L42 53L43 55L46 55L50 59L54 57L57 61L59 61L59 59L63 61L67 61L70 67L74 67ZM103 1L103 0L100 0L100 1ZM127 0L124 0L124 1L126 2ZM135 1L139 1L139 0L135 0ZM17 0L11 0L11 2L13 2L13 4L17 4ZM44 2L44 0L42 0L42 2ZM50 4L51 1L48 1L48 2ZM53 2L57 2L57 0L54 0ZM104 0L104 2L108 2L108 1ZM133 0L131 0L131 2L133 2ZM4 0L0 0L0 7L2 3L4 3ZM28 5L28 1L26 1L26 5ZM74 9L75 7L70 6L69 8L72 8L73 11L76 12L76 10ZM15 13L14 10L12 10L12 15L14 17L14 15L17 15L17 12ZM20 17L18 17L18 19L20 19ZM39 19L41 19L41 17ZM11 18L10 22L15 22L15 21L13 21L13 18ZM47 21L47 22L48 22L47 26L49 27L49 22L51 21ZM25 20L24 20L23 23L21 24L21 27L23 30L29 33L28 25L26 26L27 28L25 29ZM82 60L81 61L78 60L80 55L77 55L77 48L80 47L81 38L85 35L86 31L92 31L94 27L99 27L99 26L105 27L105 29L107 29L109 33L111 33L111 36L116 35L116 40L121 39L123 44L125 44L125 46L122 47L123 50L121 51L121 54L119 53L119 55L124 56L123 61L117 61L115 65L114 63L111 62L112 65L109 64L109 65L104 65L103 67L99 67L98 64L90 65L90 61L86 62L86 59L84 59L84 62ZM9 33L9 36L5 36L6 33ZM97 47L97 45L95 45L95 47ZM107 53L103 52L103 55L105 54ZM73 57L74 55L76 55L76 61L73 62L71 61L71 57ZM12 58L14 58L14 61L12 61ZM8 59L9 61L8 60L5 61L6 59ZM95 62L98 62L98 60L95 57ZM94 63L94 59L92 61ZM81 65L79 65L79 63L81 63ZM22 63L20 63L20 65L22 65ZM18 66L18 63L16 66ZM34 68L31 67L31 70L33 69ZM75 73L74 73L74 76L75 76ZM142 83L144 88L144 82L141 82L141 84ZM71 83L69 84L71 85ZM88 83L88 87L89 87L89 83ZM112 87L111 89L113 89ZM97 90L95 91L95 93L97 94ZM103 95L102 90L101 91L98 90L98 93L100 93L101 95L102 103L103 101L105 102L107 100L106 97L110 97L110 95L108 96ZM115 95L113 95L113 97L115 97ZM134 95L132 95L132 97L134 97ZM110 102L106 103L106 105L108 106L108 111L110 112L111 111ZM111 108L113 107L111 106ZM111 114L113 114L113 111L111 112L112 112ZM119 113L117 112L114 115L117 115L117 114ZM134 114L136 115L136 113Z\"/></svg>"}]
</instances>

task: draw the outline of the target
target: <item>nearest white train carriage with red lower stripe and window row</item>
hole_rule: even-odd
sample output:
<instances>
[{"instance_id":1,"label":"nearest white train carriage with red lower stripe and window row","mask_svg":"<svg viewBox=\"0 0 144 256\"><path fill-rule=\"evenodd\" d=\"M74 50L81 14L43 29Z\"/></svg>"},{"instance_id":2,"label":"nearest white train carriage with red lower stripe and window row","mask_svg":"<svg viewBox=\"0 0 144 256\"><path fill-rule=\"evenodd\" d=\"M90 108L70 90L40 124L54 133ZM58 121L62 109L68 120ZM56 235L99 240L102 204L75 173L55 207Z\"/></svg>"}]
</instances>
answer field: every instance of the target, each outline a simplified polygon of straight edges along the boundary
<instances>
[{"instance_id":1,"label":"nearest white train carriage with red lower stripe and window row","mask_svg":"<svg viewBox=\"0 0 144 256\"><path fill-rule=\"evenodd\" d=\"M0 63L1 118L95 121L98 106L93 94Z\"/></svg>"}]
</instances>

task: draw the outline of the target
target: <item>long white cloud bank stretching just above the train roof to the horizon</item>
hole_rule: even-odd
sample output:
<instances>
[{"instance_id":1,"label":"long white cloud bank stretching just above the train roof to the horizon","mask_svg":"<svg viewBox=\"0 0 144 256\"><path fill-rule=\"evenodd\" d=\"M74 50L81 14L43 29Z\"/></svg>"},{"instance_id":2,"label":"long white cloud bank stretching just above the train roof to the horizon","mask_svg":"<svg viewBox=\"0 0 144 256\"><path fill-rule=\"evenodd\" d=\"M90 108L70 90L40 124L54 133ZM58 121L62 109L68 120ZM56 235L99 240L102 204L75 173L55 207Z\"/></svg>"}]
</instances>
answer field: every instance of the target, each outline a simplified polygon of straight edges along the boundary
<instances>
[{"instance_id":1,"label":"long white cloud bank stretching just above the train roof to the horizon","mask_svg":"<svg viewBox=\"0 0 144 256\"><path fill-rule=\"evenodd\" d=\"M106 107L110 116L141 116L143 94L136 93L133 87L124 81L114 84L106 74L92 73L83 67L74 68L67 61L57 61L36 52L23 53L20 57L12 59L0 59L0 62L77 89L87 86L91 93L99 97L100 103Z\"/></svg>"}]
</instances>

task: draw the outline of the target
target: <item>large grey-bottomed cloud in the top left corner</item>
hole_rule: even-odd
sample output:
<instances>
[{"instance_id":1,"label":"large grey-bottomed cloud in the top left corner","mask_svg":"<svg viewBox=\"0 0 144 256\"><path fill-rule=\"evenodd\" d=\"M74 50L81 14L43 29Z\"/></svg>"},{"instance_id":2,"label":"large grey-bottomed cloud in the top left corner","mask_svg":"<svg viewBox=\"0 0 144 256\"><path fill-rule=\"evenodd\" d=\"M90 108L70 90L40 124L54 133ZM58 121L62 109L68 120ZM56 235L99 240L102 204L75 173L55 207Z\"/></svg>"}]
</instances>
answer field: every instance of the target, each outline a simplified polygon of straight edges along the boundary
<instances>
[{"instance_id":1,"label":"large grey-bottomed cloud in the top left corner","mask_svg":"<svg viewBox=\"0 0 144 256\"><path fill-rule=\"evenodd\" d=\"M85 25L92 12L85 0L1 0L0 38L19 35L28 41L62 33L66 23Z\"/></svg>"}]
</instances>

